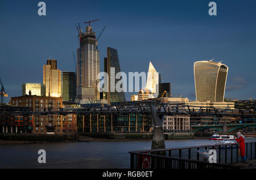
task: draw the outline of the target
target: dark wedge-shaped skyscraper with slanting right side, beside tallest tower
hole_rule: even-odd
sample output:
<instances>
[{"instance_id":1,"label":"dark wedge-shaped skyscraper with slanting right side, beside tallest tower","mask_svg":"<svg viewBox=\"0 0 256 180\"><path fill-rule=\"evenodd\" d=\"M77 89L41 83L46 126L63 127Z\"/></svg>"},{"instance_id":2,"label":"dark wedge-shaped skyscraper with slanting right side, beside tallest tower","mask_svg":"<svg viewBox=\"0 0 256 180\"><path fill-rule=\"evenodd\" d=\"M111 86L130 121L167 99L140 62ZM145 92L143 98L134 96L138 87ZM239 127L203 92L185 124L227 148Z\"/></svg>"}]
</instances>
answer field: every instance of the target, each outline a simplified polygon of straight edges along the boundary
<instances>
[{"instance_id":1,"label":"dark wedge-shaped skyscraper with slanting right side, beside tallest tower","mask_svg":"<svg viewBox=\"0 0 256 180\"><path fill-rule=\"evenodd\" d=\"M115 87L115 85L118 81L122 81L120 79L115 79L114 77L112 77L112 79L115 79L115 81L114 82L110 81L110 79L111 79L110 68L115 68L115 74L113 74L114 76L117 73L121 72L117 49L108 47L107 48L107 58L106 57L104 58L104 72L108 73L108 76L109 76L108 77L109 83L106 83L106 81L104 82L104 86L108 85L108 90L109 90L108 92L106 92L106 99L108 100L108 104L110 104L112 102L125 101L125 93L123 91L117 92L115 90L114 92L110 92L110 86Z\"/></svg>"}]
</instances>

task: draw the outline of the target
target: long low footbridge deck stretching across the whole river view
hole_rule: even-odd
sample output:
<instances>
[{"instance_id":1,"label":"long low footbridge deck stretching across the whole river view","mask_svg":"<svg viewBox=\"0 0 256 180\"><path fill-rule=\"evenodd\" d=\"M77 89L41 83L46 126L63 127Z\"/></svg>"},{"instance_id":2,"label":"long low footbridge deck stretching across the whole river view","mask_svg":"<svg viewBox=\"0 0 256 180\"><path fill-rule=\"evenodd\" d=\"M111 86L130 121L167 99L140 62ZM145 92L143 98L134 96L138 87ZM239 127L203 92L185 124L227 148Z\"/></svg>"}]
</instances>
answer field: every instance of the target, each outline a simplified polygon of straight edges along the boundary
<instances>
[{"instance_id":1,"label":"long low footbridge deck stretching across the whole river view","mask_svg":"<svg viewBox=\"0 0 256 180\"><path fill-rule=\"evenodd\" d=\"M119 103L113 105L106 104L88 104L87 107L81 108L60 108L59 111L51 111L51 108L45 111L27 111L28 108L9 108L8 106L0 106L0 116L2 115L49 115L49 114L130 114L130 113L142 113L151 114L150 106L152 104L156 108L156 113L158 115L175 115L183 114L195 117L212 116L216 118L256 118L255 111L251 110L236 110L229 108L216 108L216 107L204 107L204 106L190 106L180 103L162 103L156 101L137 101L129 103Z\"/></svg>"}]
</instances>

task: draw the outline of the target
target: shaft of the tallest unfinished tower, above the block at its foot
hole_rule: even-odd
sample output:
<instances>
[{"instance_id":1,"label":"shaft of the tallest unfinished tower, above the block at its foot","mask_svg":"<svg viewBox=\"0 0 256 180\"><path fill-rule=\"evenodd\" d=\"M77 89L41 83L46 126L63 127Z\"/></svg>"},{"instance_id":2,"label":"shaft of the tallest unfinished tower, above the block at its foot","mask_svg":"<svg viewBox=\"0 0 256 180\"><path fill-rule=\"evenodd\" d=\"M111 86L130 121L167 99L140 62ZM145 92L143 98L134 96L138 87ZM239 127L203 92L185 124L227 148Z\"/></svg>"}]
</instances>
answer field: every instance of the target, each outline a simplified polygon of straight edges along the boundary
<instances>
[{"instance_id":1,"label":"shaft of the tallest unfinished tower, above the block at its foot","mask_svg":"<svg viewBox=\"0 0 256 180\"><path fill-rule=\"evenodd\" d=\"M77 86L97 87L100 73L100 51L96 48L96 34L93 28L86 27L81 33L80 45L77 48Z\"/></svg>"}]
</instances>

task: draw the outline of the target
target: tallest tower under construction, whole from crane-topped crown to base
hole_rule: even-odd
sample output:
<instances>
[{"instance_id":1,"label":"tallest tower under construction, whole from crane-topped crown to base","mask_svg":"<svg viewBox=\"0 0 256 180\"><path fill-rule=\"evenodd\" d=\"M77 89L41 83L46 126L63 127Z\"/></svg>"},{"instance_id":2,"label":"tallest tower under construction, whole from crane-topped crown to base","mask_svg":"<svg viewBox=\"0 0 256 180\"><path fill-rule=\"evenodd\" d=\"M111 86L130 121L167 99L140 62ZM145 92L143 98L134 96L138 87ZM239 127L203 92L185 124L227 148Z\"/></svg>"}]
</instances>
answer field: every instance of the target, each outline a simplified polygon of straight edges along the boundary
<instances>
[{"instance_id":1,"label":"tallest tower under construction, whole from crane-topped crown to base","mask_svg":"<svg viewBox=\"0 0 256 180\"><path fill-rule=\"evenodd\" d=\"M79 100L100 99L100 93L97 91L100 51L97 49L96 33L90 27L90 22L85 32L82 32L81 28L79 30L79 48L77 48L77 99Z\"/></svg>"}]
</instances>

